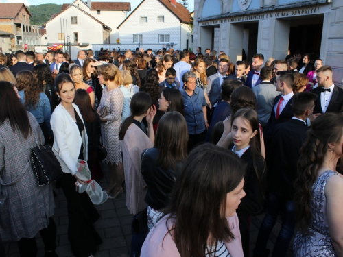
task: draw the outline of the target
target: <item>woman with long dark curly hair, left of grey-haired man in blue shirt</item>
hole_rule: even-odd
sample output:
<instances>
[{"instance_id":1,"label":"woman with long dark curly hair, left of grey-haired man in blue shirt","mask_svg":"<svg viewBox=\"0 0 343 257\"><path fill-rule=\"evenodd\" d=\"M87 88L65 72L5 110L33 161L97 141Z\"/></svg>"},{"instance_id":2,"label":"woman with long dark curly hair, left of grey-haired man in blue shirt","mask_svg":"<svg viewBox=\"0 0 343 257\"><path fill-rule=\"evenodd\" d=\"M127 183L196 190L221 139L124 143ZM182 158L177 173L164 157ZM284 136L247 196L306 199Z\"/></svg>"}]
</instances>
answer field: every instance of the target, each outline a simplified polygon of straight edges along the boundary
<instances>
[{"instance_id":1,"label":"woman with long dark curly hair, left of grey-haired man in blue shirt","mask_svg":"<svg viewBox=\"0 0 343 257\"><path fill-rule=\"evenodd\" d=\"M163 89L165 89L165 87L160 86L160 84L158 83L157 71L155 69L148 70L145 76L145 85L143 91L150 95L150 97L152 98L153 106L158 106L158 99L160 98ZM152 125L154 125L154 132L156 132L158 121L160 121L163 114L164 112L157 109L154 121L152 121Z\"/></svg>"}]
</instances>

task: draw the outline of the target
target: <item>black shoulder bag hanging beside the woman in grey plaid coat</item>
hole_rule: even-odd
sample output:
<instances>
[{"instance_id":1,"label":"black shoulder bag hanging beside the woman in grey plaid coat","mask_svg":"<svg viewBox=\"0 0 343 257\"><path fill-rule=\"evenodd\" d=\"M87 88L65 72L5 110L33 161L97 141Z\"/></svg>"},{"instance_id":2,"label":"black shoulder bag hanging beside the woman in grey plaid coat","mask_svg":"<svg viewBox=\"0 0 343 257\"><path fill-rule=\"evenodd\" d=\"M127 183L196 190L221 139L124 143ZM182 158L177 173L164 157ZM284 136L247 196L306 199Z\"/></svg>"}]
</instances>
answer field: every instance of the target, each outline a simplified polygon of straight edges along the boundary
<instances>
[{"instance_id":1,"label":"black shoulder bag hanging beside the woman in grey plaid coat","mask_svg":"<svg viewBox=\"0 0 343 257\"><path fill-rule=\"evenodd\" d=\"M49 145L38 144L31 149L31 164L38 186L44 186L62 177L60 162Z\"/></svg>"}]
</instances>

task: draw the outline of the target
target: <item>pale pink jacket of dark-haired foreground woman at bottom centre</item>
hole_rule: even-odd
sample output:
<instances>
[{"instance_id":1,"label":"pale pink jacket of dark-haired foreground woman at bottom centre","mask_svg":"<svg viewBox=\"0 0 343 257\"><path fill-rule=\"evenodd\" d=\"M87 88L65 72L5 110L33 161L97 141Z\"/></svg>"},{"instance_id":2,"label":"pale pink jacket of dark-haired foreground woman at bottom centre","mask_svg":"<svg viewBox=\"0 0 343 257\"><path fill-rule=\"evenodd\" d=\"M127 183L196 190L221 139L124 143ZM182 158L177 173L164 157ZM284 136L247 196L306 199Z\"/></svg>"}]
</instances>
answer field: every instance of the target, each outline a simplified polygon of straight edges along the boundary
<instances>
[{"instance_id":1,"label":"pale pink jacket of dark-haired foreground woman at bottom centre","mask_svg":"<svg viewBox=\"0 0 343 257\"><path fill-rule=\"evenodd\" d=\"M166 225L165 221L168 217L169 216L163 217L163 219L158 221L154 228L150 230L150 233L144 241L141 257L180 257L180 253L178 252L178 248L173 239L174 233L172 231L168 232L172 227L174 219L169 219ZM228 217L227 219L235 239L230 242L224 241L226 248L232 257L244 257L243 249L241 247L241 232L239 231L237 214L233 217Z\"/></svg>"}]
</instances>

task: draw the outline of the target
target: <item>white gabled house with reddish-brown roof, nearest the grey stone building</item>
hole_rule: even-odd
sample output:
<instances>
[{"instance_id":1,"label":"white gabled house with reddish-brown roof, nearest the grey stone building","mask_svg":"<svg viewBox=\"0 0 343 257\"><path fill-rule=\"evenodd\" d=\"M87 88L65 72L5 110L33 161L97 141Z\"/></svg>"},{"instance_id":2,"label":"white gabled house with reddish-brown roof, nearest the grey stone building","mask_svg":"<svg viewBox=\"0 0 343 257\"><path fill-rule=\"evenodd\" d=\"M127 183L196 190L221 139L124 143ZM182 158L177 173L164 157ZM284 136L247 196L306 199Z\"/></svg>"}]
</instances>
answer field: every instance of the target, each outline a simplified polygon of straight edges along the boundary
<instances>
[{"instance_id":1,"label":"white gabled house with reddish-brown roof, nearest the grey stone building","mask_svg":"<svg viewBox=\"0 0 343 257\"><path fill-rule=\"evenodd\" d=\"M143 0L118 26L121 49L185 49L191 45L191 15L175 0ZM187 36L188 35L188 36Z\"/></svg>"}]
</instances>

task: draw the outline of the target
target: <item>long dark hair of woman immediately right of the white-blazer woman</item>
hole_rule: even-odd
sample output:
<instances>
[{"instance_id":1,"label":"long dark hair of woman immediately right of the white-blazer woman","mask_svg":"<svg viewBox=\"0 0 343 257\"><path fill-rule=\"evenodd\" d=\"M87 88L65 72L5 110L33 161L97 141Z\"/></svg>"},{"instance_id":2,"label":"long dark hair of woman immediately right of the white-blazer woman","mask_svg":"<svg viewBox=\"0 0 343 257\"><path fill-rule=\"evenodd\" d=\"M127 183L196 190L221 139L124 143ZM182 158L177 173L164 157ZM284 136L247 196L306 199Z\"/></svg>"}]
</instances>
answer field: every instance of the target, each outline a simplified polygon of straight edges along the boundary
<instances>
[{"instance_id":1,"label":"long dark hair of woman immediately right of the white-blazer woman","mask_svg":"<svg viewBox=\"0 0 343 257\"><path fill-rule=\"evenodd\" d=\"M93 122L95 120L95 110L91 105L91 98L89 94L84 89L77 89L75 91L75 98L73 101L80 109L82 118L86 122Z\"/></svg>"}]
</instances>

